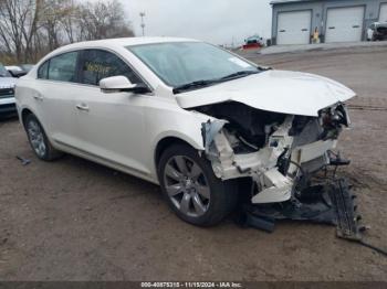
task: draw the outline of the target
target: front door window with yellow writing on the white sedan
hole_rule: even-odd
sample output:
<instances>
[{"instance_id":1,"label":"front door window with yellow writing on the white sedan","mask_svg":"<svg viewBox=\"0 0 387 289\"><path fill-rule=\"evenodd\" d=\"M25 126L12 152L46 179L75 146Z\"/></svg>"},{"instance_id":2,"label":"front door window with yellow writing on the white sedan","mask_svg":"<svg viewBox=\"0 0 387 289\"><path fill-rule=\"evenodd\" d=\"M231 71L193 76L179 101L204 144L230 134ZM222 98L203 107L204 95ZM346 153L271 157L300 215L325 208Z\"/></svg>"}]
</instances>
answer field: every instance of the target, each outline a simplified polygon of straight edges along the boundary
<instances>
[{"instance_id":1,"label":"front door window with yellow writing on the white sedan","mask_svg":"<svg viewBox=\"0 0 387 289\"><path fill-rule=\"evenodd\" d=\"M100 81L111 76L126 76L132 83L142 79L118 56L102 50L85 50L83 53L81 83L100 85Z\"/></svg>"}]
</instances>

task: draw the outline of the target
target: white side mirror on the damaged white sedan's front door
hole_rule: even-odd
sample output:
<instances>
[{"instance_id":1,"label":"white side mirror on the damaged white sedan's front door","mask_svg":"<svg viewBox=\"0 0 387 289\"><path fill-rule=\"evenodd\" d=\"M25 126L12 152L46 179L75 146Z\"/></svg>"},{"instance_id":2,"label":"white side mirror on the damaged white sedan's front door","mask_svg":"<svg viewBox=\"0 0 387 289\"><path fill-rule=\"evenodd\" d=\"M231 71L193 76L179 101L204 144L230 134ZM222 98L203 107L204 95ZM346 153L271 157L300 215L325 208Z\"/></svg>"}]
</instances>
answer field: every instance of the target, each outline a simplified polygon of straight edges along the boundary
<instances>
[{"instance_id":1,"label":"white side mirror on the damaged white sedan's front door","mask_svg":"<svg viewBox=\"0 0 387 289\"><path fill-rule=\"evenodd\" d=\"M127 92L134 94L149 93L145 84L133 84L126 76L112 76L100 81L100 88L103 93Z\"/></svg>"}]
</instances>

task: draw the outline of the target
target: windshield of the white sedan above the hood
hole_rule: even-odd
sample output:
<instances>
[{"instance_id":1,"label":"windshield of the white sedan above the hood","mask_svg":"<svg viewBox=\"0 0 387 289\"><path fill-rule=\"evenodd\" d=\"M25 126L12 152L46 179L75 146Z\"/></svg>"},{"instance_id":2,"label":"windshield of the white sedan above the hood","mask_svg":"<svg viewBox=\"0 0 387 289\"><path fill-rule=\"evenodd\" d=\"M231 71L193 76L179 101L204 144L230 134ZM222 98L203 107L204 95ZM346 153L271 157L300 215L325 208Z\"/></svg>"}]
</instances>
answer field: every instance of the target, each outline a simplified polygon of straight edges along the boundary
<instances>
[{"instance_id":1,"label":"windshield of the white sedan above the hood","mask_svg":"<svg viewBox=\"0 0 387 289\"><path fill-rule=\"evenodd\" d=\"M242 58L202 42L157 43L127 49L172 87L258 71Z\"/></svg>"}]
</instances>

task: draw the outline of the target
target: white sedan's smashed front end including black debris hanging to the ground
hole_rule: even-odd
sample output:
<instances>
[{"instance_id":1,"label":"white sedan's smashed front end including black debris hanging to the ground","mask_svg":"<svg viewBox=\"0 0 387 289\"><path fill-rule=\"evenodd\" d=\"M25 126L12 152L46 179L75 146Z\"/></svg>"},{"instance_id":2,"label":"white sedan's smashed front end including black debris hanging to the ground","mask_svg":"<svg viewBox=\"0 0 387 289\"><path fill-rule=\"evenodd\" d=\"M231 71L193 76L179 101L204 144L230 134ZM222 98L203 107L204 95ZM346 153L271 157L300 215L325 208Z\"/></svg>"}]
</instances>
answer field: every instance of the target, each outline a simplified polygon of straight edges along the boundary
<instances>
[{"instance_id":1,"label":"white sedan's smashed front end including black debris hanging to the ground","mask_svg":"<svg viewBox=\"0 0 387 289\"><path fill-rule=\"evenodd\" d=\"M244 210L250 225L272 231L279 218L337 225L344 217L352 223L342 227L357 227L348 185L326 173L330 165L348 164L333 152L342 129L351 124L344 104L322 109L318 117L271 113L234 101L195 110L216 118L202 124L215 174L222 180L250 180ZM352 231L348 234L356 236L357 229Z\"/></svg>"}]
</instances>

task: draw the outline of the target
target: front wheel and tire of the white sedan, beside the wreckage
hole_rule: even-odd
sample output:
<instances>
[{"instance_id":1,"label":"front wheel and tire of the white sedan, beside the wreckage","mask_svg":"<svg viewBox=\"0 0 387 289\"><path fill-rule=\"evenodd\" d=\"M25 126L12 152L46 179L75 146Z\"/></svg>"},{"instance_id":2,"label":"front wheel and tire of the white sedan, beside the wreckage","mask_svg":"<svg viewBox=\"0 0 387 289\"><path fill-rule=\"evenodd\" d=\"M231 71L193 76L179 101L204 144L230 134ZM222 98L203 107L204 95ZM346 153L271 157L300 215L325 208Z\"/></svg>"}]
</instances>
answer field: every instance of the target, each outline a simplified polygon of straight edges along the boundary
<instances>
[{"instance_id":1,"label":"front wheel and tire of the white sedan, beside the wreckage","mask_svg":"<svg viewBox=\"0 0 387 289\"><path fill-rule=\"evenodd\" d=\"M167 148L158 163L158 176L169 206L190 224L217 225L236 207L236 181L218 179L211 163L189 146Z\"/></svg>"}]
</instances>

